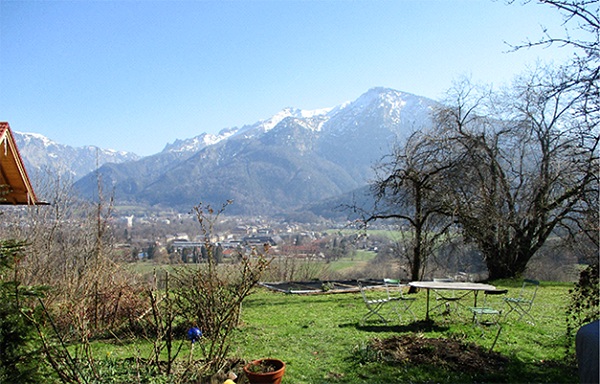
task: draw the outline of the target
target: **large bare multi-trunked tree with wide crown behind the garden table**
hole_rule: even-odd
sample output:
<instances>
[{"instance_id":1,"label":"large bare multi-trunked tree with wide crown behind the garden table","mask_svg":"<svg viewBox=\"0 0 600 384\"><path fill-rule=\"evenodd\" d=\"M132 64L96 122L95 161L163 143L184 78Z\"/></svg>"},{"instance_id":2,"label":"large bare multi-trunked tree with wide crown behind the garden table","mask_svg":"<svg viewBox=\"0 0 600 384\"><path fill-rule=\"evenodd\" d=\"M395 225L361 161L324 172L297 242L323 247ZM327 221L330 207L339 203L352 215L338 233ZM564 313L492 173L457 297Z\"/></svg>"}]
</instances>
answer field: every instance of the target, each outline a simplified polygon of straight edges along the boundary
<instances>
[{"instance_id":1,"label":"large bare multi-trunked tree with wide crown behind the garden table","mask_svg":"<svg viewBox=\"0 0 600 384\"><path fill-rule=\"evenodd\" d=\"M502 94L468 81L437 111L438 145L455 166L438 196L485 257L490 279L522 274L560 223L597 188L598 126L578 111L583 98L557 90L563 71L536 70Z\"/></svg>"}]
</instances>

